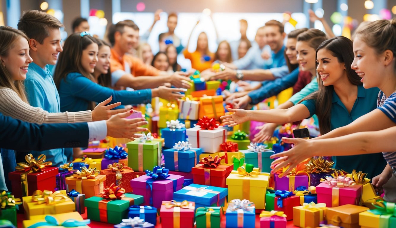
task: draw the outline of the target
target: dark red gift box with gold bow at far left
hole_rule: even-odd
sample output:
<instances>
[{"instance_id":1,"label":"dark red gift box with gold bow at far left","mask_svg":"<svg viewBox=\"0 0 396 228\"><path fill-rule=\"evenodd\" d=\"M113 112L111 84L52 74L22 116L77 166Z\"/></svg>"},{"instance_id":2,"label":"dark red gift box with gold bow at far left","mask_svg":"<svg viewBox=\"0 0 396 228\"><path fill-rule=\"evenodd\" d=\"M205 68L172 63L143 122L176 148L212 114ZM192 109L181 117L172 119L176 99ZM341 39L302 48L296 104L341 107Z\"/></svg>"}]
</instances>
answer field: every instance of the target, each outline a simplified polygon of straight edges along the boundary
<instances>
[{"instance_id":1,"label":"dark red gift box with gold bow at far left","mask_svg":"<svg viewBox=\"0 0 396 228\"><path fill-rule=\"evenodd\" d=\"M51 161L46 161L44 154L38 156L36 160L32 154L25 156L27 163L17 163L15 169L8 173L11 180L11 189L15 198L22 198L23 196L31 196L34 191L41 190L55 190L56 180L58 175L58 167L50 167Z\"/></svg>"}]
</instances>

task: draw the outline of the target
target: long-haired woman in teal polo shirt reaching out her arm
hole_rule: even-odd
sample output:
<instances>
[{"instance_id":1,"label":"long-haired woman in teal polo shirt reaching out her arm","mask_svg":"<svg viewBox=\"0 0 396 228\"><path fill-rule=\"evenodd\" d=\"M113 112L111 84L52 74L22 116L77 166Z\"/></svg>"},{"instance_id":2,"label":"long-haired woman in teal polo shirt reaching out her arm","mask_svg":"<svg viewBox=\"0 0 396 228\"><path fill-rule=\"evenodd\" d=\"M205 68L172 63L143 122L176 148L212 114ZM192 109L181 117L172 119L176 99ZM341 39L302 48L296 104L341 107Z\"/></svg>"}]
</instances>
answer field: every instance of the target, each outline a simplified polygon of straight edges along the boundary
<instances>
[{"instance_id":1,"label":"long-haired woman in teal polo shirt reaching out her arm","mask_svg":"<svg viewBox=\"0 0 396 228\"><path fill-rule=\"evenodd\" d=\"M299 47L297 51L304 53ZM323 42L316 50L317 77L319 91L306 97L292 108L272 110L229 109L232 115L221 117L230 127L247 120L290 123L316 114L319 119L320 133L326 134L332 129L345 126L360 116L374 110L379 89L364 89L360 77L350 68L354 59L352 41L338 36ZM301 62L300 64L307 64ZM357 156L333 157L336 169L352 172L362 170L368 178L379 175L386 162L381 154L364 154Z\"/></svg>"}]
</instances>

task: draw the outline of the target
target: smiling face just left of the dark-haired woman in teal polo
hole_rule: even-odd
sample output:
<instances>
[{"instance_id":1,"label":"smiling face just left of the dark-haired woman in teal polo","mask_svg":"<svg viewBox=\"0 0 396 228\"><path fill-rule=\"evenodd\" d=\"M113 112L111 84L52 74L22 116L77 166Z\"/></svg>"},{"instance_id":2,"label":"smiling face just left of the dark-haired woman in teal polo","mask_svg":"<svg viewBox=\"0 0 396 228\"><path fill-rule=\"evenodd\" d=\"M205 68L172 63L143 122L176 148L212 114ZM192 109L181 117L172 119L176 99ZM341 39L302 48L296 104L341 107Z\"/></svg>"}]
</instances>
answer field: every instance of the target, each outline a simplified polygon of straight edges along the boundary
<instances>
[{"instance_id":1,"label":"smiling face just left of the dark-haired woman in teal polo","mask_svg":"<svg viewBox=\"0 0 396 228\"><path fill-rule=\"evenodd\" d=\"M296 50L297 50L297 61L300 64L301 70L311 72L312 75L315 75L316 50L310 47L308 42L305 41L297 41Z\"/></svg>"}]
</instances>

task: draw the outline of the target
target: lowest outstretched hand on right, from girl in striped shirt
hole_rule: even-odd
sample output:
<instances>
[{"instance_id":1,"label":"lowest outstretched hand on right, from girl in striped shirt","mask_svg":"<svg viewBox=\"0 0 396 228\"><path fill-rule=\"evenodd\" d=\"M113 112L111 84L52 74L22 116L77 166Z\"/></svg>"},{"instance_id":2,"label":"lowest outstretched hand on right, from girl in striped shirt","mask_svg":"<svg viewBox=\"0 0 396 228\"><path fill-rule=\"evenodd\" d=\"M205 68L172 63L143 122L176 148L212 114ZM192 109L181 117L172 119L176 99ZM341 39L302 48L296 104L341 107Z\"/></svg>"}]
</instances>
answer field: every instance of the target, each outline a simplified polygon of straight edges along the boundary
<instances>
[{"instance_id":1,"label":"lowest outstretched hand on right, from girl in striped shirt","mask_svg":"<svg viewBox=\"0 0 396 228\"><path fill-rule=\"evenodd\" d=\"M282 141L285 143L293 143L294 147L285 152L270 156L271 159L277 158L271 163L271 173L276 173L276 171L282 169L283 167L287 167L288 165L289 168L284 173L289 173L291 169L296 167L299 163L307 158L312 157L312 141L300 138L290 139L286 137L283 137ZM279 177L282 176L283 173L279 175Z\"/></svg>"}]
</instances>

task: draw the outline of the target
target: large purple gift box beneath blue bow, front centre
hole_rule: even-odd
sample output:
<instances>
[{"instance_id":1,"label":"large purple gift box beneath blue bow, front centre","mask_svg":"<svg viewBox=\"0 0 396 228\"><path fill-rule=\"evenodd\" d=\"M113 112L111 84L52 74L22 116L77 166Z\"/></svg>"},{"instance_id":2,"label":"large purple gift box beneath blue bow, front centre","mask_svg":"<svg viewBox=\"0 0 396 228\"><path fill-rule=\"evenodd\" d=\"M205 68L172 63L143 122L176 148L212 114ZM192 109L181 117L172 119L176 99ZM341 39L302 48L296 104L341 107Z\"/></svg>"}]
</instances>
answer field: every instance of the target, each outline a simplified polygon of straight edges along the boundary
<instances>
[{"instance_id":1,"label":"large purple gift box beneath blue bow, front centre","mask_svg":"<svg viewBox=\"0 0 396 228\"><path fill-rule=\"evenodd\" d=\"M160 208L163 200L170 201L173 199L173 192L180 190L183 186L184 177L179 175L170 175L167 179L159 179L152 182L152 190L147 183L152 178L144 175L131 180L133 194L144 197L141 205L150 205L152 197L153 207Z\"/></svg>"}]
</instances>

